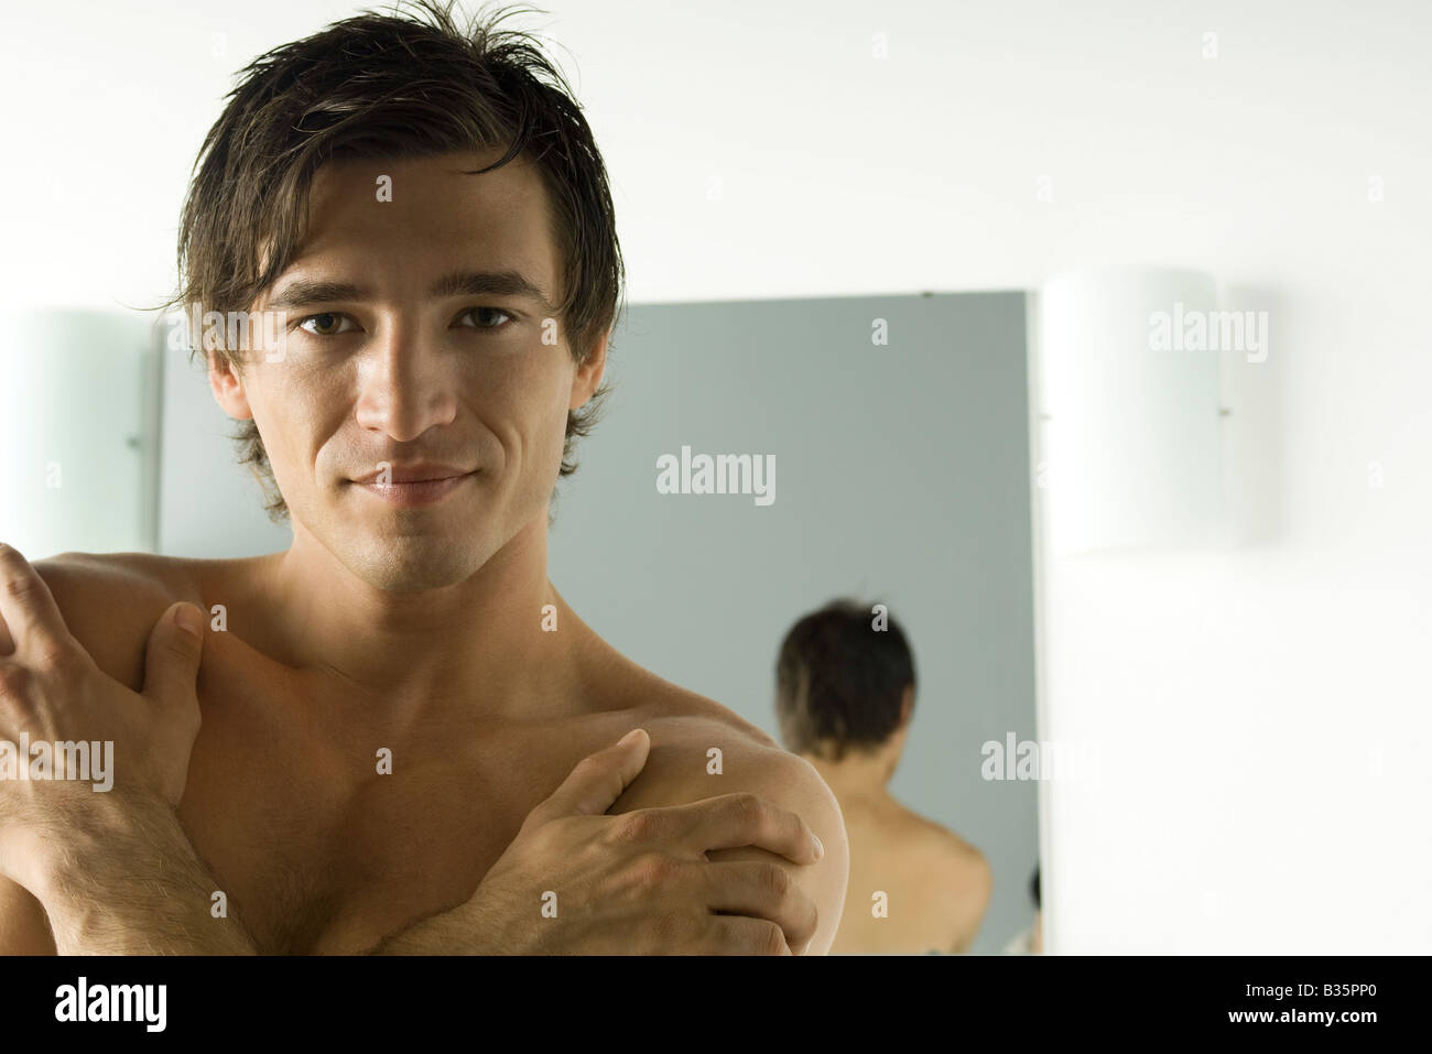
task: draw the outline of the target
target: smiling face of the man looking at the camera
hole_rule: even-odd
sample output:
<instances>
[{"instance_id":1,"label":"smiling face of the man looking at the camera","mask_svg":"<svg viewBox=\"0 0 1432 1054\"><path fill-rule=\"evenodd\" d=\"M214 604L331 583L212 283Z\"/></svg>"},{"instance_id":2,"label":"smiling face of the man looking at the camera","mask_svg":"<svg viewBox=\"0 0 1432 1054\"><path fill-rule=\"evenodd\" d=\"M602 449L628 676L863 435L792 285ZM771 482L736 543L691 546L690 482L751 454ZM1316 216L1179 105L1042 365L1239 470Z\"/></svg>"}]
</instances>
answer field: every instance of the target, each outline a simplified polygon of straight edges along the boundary
<instances>
[{"instance_id":1,"label":"smiling face of the man looking at the camera","mask_svg":"<svg viewBox=\"0 0 1432 1054\"><path fill-rule=\"evenodd\" d=\"M211 371L221 405L255 420L295 531L381 589L463 581L546 517L567 411L601 379L604 341L579 368L551 312L536 169L465 175L500 156L325 165L298 258L256 305L286 312L282 359ZM461 278L491 272L544 302Z\"/></svg>"}]
</instances>

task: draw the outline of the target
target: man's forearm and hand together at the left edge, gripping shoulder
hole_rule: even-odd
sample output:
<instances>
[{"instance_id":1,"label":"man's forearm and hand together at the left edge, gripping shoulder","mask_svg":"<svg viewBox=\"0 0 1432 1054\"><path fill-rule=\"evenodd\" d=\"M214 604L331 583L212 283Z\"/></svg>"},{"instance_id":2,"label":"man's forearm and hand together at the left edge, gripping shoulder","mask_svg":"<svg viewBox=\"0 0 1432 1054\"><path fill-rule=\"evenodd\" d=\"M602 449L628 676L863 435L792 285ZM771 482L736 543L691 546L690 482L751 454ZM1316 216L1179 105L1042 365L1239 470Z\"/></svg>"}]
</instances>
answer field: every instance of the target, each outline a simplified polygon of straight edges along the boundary
<instances>
[{"instance_id":1,"label":"man's forearm and hand together at the left edge, gripping shoulder","mask_svg":"<svg viewBox=\"0 0 1432 1054\"><path fill-rule=\"evenodd\" d=\"M173 623L162 586L116 583L113 573L97 576L83 560L44 561L37 573L0 546L0 717L7 733L113 739L120 766L113 789L102 793L67 780L0 785L0 874L29 892L29 899L10 892L0 905L7 914L0 932L34 941L39 901L60 954L252 951L236 919L211 915L215 882L175 813L198 730L200 639ZM86 629L86 639L77 639L64 616L93 620L95 609L106 607L92 603L95 594L116 584L129 584L139 609L133 617L143 619L149 603L162 617ZM137 649L137 663L135 633L147 644ZM103 666L93 653L105 656ZM116 669L116 654L130 663ZM140 680L143 696L126 687ZM21 912L16 924L14 912Z\"/></svg>"}]
</instances>

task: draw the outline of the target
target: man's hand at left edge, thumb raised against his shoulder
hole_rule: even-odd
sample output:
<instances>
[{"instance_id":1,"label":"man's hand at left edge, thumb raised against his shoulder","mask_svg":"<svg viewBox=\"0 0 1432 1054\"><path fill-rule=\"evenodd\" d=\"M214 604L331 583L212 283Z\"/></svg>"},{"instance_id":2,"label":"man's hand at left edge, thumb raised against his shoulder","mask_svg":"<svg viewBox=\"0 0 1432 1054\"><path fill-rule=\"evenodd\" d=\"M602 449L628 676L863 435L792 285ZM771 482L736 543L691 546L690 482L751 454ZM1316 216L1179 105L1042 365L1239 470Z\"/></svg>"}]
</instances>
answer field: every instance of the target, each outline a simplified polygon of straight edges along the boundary
<instances>
[{"instance_id":1,"label":"man's hand at left edge, thumb raised against his shoulder","mask_svg":"<svg viewBox=\"0 0 1432 1054\"><path fill-rule=\"evenodd\" d=\"M112 742L112 775L123 796L176 808L199 733L199 609L175 604L155 624L143 693L95 664L66 627L44 580L3 543L0 617L14 642L14 652L0 656L0 742L6 743L0 749L16 752L16 776L30 769L30 758L19 756L20 733L52 750L54 743ZM179 617L188 617L192 629L186 632ZM63 770L63 749L50 760L52 779L0 779L0 874L21 885L34 881L27 872L36 862L26 858L49 841L37 832L63 826L63 816L83 811L86 796L95 795L92 783L53 778L74 775Z\"/></svg>"}]
</instances>

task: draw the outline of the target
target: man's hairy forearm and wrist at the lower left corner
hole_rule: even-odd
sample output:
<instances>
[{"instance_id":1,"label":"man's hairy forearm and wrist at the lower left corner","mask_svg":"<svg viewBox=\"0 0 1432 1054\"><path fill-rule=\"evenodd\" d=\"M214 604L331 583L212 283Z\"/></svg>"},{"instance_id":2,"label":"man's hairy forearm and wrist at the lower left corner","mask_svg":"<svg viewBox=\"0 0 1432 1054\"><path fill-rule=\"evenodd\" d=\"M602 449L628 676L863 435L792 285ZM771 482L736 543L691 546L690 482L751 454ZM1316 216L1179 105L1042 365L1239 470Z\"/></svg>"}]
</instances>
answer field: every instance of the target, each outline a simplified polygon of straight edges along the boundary
<instances>
[{"instance_id":1,"label":"man's hairy forearm and wrist at the lower left corner","mask_svg":"<svg viewBox=\"0 0 1432 1054\"><path fill-rule=\"evenodd\" d=\"M60 955L252 955L175 811L119 792L76 798L30 833L30 892Z\"/></svg>"}]
</instances>

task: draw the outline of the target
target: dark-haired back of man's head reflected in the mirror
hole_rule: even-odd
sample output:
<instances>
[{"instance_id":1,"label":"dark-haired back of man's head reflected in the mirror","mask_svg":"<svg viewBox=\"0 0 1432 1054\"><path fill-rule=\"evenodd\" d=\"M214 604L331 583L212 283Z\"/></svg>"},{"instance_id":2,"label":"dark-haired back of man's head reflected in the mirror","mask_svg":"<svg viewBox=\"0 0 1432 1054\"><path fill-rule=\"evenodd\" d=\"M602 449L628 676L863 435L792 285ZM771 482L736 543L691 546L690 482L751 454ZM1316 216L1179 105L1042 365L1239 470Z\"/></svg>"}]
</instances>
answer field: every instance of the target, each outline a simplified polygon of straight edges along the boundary
<instances>
[{"instance_id":1,"label":"dark-haired back of man's head reflected in the mirror","mask_svg":"<svg viewBox=\"0 0 1432 1054\"><path fill-rule=\"evenodd\" d=\"M786 749L823 760L886 743L902 719L915 657L884 607L833 600L786 633L776 715Z\"/></svg>"}]
</instances>

